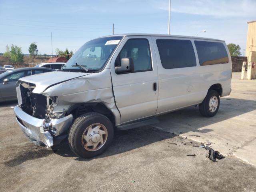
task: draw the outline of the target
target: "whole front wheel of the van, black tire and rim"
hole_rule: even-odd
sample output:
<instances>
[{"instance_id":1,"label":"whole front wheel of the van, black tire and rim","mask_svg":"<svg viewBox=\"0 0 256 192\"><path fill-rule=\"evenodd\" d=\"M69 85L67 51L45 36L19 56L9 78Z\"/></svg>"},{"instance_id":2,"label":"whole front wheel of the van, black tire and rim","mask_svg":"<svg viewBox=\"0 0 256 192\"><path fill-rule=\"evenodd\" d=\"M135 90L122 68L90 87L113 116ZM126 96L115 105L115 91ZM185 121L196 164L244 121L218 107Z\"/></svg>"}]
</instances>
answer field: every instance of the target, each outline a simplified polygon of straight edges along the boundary
<instances>
[{"instance_id":1,"label":"whole front wheel of the van, black tire and rim","mask_svg":"<svg viewBox=\"0 0 256 192\"><path fill-rule=\"evenodd\" d=\"M92 158L105 152L114 137L111 121L99 113L86 113L74 120L68 134L71 150L82 158Z\"/></svg>"}]
</instances>

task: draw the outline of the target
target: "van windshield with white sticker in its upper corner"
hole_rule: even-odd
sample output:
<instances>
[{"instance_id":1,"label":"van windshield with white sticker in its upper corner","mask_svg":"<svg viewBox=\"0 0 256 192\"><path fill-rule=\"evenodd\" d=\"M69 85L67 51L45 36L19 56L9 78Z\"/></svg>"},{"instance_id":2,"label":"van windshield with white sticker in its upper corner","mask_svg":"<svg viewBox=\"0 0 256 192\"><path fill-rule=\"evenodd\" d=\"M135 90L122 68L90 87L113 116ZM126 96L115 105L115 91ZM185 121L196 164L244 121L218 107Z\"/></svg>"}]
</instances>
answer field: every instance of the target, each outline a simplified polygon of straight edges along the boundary
<instances>
[{"instance_id":1,"label":"van windshield with white sticker in its upper corner","mask_svg":"<svg viewBox=\"0 0 256 192\"><path fill-rule=\"evenodd\" d=\"M102 70L122 36L98 38L86 42L62 67L62 71Z\"/></svg>"}]
</instances>

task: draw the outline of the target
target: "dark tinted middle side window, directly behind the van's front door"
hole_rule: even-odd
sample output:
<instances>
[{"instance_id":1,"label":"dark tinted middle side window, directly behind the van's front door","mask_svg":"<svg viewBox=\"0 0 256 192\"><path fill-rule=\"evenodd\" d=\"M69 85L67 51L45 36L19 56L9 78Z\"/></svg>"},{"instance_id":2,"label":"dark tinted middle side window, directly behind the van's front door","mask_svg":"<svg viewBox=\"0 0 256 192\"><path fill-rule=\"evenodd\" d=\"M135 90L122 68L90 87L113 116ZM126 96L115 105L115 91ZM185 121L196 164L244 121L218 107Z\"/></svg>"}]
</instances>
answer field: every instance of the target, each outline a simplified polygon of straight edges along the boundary
<instances>
[{"instance_id":1,"label":"dark tinted middle side window, directly behind the van's front door","mask_svg":"<svg viewBox=\"0 0 256 192\"><path fill-rule=\"evenodd\" d=\"M157 39L156 44L165 69L196 66L196 56L190 40Z\"/></svg>"}]
</instances>

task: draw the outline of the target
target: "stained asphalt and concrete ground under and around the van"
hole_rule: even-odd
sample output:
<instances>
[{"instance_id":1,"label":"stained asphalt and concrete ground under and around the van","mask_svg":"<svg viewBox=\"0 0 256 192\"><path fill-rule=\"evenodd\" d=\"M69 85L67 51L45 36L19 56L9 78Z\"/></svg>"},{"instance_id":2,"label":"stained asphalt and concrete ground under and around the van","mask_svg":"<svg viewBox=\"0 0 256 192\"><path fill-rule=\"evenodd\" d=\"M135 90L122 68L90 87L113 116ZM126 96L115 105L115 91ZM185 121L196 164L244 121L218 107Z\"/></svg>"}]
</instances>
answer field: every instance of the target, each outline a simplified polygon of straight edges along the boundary
<instances>
[{"instance_id":1,"label":"stained asphalt and concrete ground under and around the van","mask_svg":"<svg viewBox=\"0 0 256 192\"><path fill-rule=\"evenodd\" d=\"M159 124L116 132L101 156L81 159L64 141L46 149L32 144L0 104L0 191L256 191L256 80L238 80L221 98L218 114L197 107L159 116ZM212 162L200 142L226 157ZM195 155L195 156L187 156Z\"/></svg>"}]
</instances>

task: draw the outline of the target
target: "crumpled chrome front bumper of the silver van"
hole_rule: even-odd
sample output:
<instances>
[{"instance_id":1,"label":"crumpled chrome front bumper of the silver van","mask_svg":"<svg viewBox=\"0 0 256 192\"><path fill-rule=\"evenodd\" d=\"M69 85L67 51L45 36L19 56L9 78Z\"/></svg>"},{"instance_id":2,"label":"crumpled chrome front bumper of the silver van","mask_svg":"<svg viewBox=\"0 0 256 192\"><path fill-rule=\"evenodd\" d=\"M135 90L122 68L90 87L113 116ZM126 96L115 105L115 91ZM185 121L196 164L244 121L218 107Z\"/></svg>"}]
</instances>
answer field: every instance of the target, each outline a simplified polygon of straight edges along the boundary
<instances>
[{"instance_id":1,"label":"crumpled chrome front bumper of the silver van","mask_svg":"<svg viewBox=\"0 0 256 192\"><path fill-rule=\"evenodd\" d=\"M22 111L19 106L14 107L16 121L25 135L35 144L53 146L53 138L64 134L73 121L72 114L59 119L51 119L51 130L44 131L44 119L38 119Z\"/></svg>"}]
</instances>

